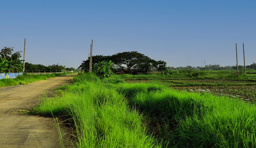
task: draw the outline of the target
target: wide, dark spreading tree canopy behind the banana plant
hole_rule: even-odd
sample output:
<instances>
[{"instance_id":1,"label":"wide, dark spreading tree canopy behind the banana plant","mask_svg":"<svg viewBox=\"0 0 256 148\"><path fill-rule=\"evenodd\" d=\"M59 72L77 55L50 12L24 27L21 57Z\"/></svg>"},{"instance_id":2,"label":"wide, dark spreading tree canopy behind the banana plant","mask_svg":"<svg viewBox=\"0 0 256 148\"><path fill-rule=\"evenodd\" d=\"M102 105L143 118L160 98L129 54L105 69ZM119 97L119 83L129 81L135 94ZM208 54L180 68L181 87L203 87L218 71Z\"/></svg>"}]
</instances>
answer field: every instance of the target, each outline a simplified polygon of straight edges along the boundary
<instances>
[{"instance_id":1,"label":"wide, dark spreading tree canopy behind the banana plant","mask_svg":"<svg viewBox=\"0 0 256 148\"><path fill-rule=\"evenodd\" d=\"M79 69L89 71L90 57L87 60L82 61L82 64L78 67ZM140 69L143 73L150 71L150 67L155 67L158 71L167 70L165 61L155 61L150 57L139 53L138 51L126 51L122 53L116 53L113 55L94 55L92 56L92 65L98 63L99 61L109 61L111 60L114 65L124 68L126 65L128 71L131 68Z\"/></svg>"}]
</instances>

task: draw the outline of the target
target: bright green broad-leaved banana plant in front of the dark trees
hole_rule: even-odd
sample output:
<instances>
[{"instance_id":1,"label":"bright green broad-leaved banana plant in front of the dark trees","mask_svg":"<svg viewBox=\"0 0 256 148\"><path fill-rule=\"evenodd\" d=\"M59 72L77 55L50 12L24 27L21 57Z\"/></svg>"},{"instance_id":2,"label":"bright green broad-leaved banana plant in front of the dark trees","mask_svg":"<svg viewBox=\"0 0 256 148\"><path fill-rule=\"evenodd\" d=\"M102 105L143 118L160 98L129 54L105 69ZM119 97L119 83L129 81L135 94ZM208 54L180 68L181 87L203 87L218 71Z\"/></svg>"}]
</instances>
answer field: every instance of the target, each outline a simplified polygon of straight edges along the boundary
<instances>
[{"instance_id":1,"label":"bright green broad-leaved banana plant in front of the dark trees","mask_svg":"<svg viewBox=\"0 0 256 148\"><path fill-rule=\"evenodd\" d=\"M107 61L99 61L98 63L94 64L93 70L100 78L108 78L110 77L114 72L116 68L113 67L113 64L111 60L109 62Z\"/></svg>"}]
</instances>

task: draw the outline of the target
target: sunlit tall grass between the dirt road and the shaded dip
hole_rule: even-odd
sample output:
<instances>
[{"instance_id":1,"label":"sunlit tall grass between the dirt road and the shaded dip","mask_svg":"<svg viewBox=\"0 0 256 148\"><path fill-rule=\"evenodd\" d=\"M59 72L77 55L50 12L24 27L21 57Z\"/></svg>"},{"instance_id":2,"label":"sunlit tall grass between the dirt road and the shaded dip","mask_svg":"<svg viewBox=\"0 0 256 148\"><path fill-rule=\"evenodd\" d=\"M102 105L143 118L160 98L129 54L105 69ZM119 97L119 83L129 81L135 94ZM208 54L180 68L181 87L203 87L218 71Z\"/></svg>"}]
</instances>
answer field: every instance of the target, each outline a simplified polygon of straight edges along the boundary
<instances>
[{"instance_id":1,"label":"sunlit tall grass between the dirt road and the shaded dip","mask_svg":"<svg viewBox=\"0 0 256 148\"><path fill-rule=\"evenodd\" d=\"M79 148L160 146L147 135L142 115L129 108L124 96L106 87L104 81L91 73L77 75L74 85L65 87L61 96L46 98L34 113L70 115Z\"/></svg>"}]
</instances>

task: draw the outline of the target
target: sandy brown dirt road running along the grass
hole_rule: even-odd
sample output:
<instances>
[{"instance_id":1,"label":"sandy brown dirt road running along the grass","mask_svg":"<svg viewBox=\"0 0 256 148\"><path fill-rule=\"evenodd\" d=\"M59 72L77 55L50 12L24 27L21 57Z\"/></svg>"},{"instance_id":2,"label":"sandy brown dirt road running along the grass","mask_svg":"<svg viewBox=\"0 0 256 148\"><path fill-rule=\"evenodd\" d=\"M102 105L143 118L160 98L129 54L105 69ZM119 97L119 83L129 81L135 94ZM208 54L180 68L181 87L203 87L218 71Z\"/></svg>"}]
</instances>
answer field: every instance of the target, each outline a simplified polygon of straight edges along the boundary
<instances>
[{"instance_id":1,"label":"sandy brown dirt road running along the grass","mask_svg":"<svg viewBox=\"0 0 256 148\"><path fill-rule=\"evenodd\" d=\"M75 75L75 74L72 74ZM0 88L0 148L58 148L59 135L53 118L13 114L32 109L50 90L70 83L70 75L36 81L27 85ZM70 130L60 124L65 147L73 147ZM37 146L38 145L38 146Z\"/></svg>"}]
</instances>

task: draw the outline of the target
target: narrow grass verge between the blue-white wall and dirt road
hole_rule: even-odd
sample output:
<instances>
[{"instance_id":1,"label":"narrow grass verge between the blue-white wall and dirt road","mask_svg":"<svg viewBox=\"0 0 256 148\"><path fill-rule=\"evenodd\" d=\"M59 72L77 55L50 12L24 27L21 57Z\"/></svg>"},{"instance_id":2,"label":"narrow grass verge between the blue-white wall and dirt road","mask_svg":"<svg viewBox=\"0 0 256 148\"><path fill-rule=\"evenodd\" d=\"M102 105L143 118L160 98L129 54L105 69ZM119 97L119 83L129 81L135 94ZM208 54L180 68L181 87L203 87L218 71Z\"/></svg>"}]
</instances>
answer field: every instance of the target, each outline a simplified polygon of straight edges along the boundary
<instances>
[{"instance_id":1,"label":"narrow grass verge between the blue-white wall and dirt road","mask_svg":"<svg viewBox=\"0 0 256 148\"><path fill-rule=\"evenodd\" d=\"M47 78L58 77L62 75L67 75L69 73L53 73L53 74L39 74L39 75L32 75L32 74L22 74L18 75L16 78L9 78L9 79L1 79L0 80L0 87L6 86L14 86L14 85L23 85L32 83L34 81L46 80Z\"/></svg>"}]
</instances>

